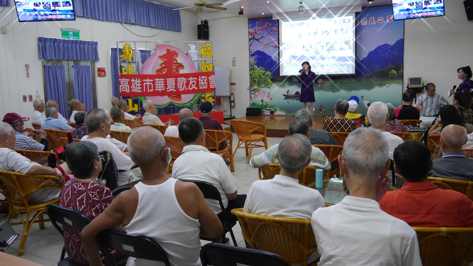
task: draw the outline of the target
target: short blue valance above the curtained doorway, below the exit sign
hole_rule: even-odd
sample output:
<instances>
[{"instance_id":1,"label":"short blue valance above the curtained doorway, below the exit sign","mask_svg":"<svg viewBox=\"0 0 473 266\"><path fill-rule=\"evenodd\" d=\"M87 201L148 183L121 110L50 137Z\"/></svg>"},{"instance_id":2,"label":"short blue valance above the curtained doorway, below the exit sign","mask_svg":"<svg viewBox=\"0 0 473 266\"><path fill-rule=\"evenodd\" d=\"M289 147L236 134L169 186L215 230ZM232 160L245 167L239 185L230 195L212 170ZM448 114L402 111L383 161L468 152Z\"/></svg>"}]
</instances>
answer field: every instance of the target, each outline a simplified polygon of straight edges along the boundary
<instances>
[{"instance_id":1,"label":"short blue valance above the curtained doorway, below the exit sign","mask_svg":"<svg viewBox=\"0 0 473 266\"><path fill-rule=\"evenodd\" d=\"M98 43L38 37L39 59L99 61Z\"/></svg>"}]
</instances>

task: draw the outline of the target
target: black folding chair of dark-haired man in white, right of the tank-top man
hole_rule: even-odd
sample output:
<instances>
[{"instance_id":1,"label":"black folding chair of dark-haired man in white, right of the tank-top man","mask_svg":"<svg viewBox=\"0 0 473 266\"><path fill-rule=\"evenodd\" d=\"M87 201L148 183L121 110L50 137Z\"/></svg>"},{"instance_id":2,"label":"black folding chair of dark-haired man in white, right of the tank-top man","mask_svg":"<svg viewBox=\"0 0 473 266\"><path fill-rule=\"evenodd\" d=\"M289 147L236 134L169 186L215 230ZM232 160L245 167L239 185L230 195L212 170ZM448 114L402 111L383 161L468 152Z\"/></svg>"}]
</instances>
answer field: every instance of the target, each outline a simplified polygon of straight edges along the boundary
<instances>
[{"instance_id":1,"label":"black folding chair of dark-haired man in white, right of the tank-top man","mask_svg":"<svg viewBox=\"0 0 473 266\"><path fill-rule=\"evenodd\" d=\"M225 224L223 225L223 236L222 236L222 244L225 244L225 235L227 232L230 232L230 235L232 236L233 240L233 245L236 247L238 244L236 243L235 235L233 234L232 227L235 226L236 222L233 224L230 224L230 221L228 220L228 215L227 212L225 211L225 207L223 206L222 203L222 198L220 196L219 190L210 184L209 182L205 181L193 181L193 180L186 180L186 179L179 179L184 182L192 182L195 185L199 187L201 190L202 194L204 195L204 198L206 199L213 199L213 200L218 200L220 204L220 208L222 209L222 215L225 217ZM216 241L218 239L213 239L213 238L208 238L208 237L200 237L201 240L206 240L206 241Z\"/></svg>"}]
</instances>

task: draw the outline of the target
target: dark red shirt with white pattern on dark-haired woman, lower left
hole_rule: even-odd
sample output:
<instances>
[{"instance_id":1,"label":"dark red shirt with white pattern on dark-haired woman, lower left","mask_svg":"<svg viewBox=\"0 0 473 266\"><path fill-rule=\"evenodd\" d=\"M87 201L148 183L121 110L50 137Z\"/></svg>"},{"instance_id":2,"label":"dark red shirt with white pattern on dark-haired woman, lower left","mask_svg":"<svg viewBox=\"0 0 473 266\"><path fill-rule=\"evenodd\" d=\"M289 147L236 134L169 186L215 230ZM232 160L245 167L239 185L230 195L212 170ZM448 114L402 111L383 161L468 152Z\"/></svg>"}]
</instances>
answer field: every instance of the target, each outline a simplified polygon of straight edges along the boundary
<instances>
[{"instance_id":1,"label":"dark red shirt with white pattern on dark-haired woman, lower left","mask_svg":"<svg viewBox=\"0 0 473 266\"><path fill-rule=\"evenodd\" d=\"M106 186L91 181L71 179L64 184L59 205L84 213L90 220L93 220L105 211L113 199L112 191ZM80 230L64 228L64 246L69 257L73 258L76 263L88 263L82 247ZM111 251L112 255L117 254L115 250ZM102 254L100 256L105 264L105 257Z\"/></svg>"}]
</instances>

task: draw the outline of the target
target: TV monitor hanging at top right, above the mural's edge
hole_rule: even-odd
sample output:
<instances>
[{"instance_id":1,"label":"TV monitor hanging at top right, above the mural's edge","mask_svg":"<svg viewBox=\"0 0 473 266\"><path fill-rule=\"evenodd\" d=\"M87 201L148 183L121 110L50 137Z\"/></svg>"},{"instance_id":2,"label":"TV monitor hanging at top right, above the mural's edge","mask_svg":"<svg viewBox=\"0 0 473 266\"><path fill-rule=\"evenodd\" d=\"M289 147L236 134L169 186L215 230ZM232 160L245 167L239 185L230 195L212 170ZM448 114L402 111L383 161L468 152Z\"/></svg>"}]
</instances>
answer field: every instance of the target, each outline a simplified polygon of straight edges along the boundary
<instances>
[{"instance_id":1,"label":"TV monitor hanging at top right, above the mural's edge","mask_svg":"<svg viewBox=\"0 0 473 266\"><path fill-rule=\"evenodd\" d=\"M392 0L394 20L445 16L445 0Z\"/></svg>"}]
</instances>

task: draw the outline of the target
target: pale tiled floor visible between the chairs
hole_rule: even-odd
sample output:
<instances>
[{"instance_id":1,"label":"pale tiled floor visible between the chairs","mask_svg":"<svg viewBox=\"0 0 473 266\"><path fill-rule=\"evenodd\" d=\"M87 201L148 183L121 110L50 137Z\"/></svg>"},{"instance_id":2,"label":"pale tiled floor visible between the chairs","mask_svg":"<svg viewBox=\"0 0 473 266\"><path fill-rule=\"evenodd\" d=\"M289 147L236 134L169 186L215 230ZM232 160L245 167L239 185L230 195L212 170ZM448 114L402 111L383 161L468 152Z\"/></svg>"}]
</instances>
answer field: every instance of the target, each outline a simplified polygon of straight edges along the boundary
<instances>
[{"instance_id":1,"label":"pale tiled floor visible between the chairs","mask_svg":"<svg viewBox=\"0 0 473 266\"><path fill-rule=\"evenodd\" d=\"M280 140L280 138L268 138L268 146L271 147L272 145L279 143ZM233 134L234 149L237 141L238 139L236 134ZM258 155L263 151L264 148L254 149L252 156ZM234 160L235 172L232 172L232 174L235 176L238 183L240 183L238 194L246 194L253 182L258 180L258 169L253 169L248 165L248 158L245 156L245 149L239 149L234 156ZM5 219L6 216L6 214L0 214L0 221ZM45 217L45 219L47 218ZM20 222L20 219L18 218L11 222ZM53 227L51 222L46 222L45 226L46 229L40 230L37 223L33 225L26 241L25 255L22 257L44 266L56 266L61 257L64 240L62 239L61 234ZM21 237L23 226L13 225L12 227ZM233 227L233 232L238 246L245 247L245 241L243 241L243 235L241 234L241 228L238 223ZM3 248L5 252L16 256L21 241L20 237L18 237L9 248ZM230 233L227 233L227 237L230 239L231 245L233 245ZM202 245L206 243L208 243L208 241L201 240Z\"/></svg>"}]
</instances>

